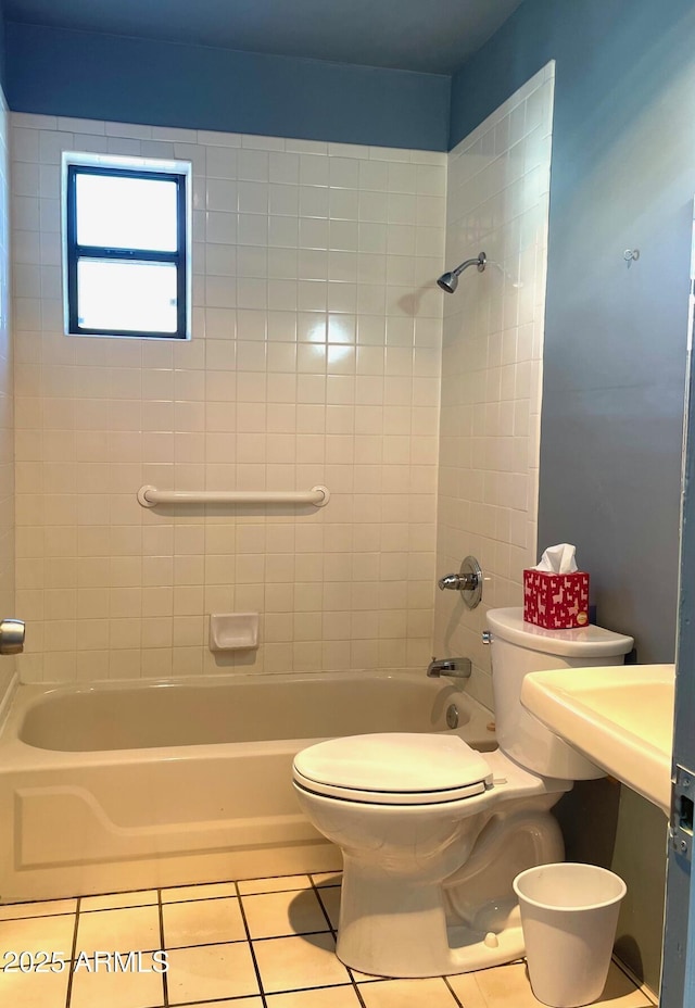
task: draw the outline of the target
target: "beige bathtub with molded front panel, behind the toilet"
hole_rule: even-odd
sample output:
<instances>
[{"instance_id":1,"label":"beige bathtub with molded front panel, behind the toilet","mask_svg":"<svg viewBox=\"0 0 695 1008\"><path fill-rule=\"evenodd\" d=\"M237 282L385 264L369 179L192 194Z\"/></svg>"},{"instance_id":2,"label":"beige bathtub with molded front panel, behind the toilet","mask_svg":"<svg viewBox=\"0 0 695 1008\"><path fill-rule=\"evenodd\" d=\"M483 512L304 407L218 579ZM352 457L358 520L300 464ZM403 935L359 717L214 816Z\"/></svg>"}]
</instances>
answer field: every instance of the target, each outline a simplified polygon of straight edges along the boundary
<instances>
[{"instance_id":1,"label":"beige bathtub with molded front panel, behind the toilet","mask_svg":"<svg viewBox=\"0 0 695 1008\"><path fill-rule=\"evenodd\" d=\"M495 745L490 711L425 675L235 675L17 685L0 727L0 903L329 871L294 754L372 731Z\"/></svg>"}]
</instances>

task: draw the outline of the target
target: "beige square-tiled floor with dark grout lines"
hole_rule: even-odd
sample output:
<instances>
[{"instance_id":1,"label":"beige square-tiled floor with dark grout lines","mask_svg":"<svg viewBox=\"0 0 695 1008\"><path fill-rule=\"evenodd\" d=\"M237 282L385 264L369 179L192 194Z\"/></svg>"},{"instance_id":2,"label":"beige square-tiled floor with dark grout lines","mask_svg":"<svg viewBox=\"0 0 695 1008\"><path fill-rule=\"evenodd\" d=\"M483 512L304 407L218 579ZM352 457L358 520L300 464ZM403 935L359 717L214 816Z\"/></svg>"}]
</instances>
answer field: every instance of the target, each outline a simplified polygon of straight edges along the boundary
<instances>
[{"instance_id":1,"label":"beige square-tiled floor with dark grout lines","mask_svg":"<svg viewBox=\"0 0 695 1008\"><path fill-rule=\"evenodd\" d=\"M430 980L380 980L346 969L333 954L339 903L340 875L315 874L0 906L0 1005L540 1005L522 962ZM157 971L160 949L168 957L165 973ZM12 962L8 956L12 952L24 956ZM115 959L116 952L122 954L121 960ZM128 959L128 952L140 955ZM51 969L52 953L55 961ZM612 965L603 1000L596 1006L646 1008L650 1004Z\"/></svg>"}]
</instances>

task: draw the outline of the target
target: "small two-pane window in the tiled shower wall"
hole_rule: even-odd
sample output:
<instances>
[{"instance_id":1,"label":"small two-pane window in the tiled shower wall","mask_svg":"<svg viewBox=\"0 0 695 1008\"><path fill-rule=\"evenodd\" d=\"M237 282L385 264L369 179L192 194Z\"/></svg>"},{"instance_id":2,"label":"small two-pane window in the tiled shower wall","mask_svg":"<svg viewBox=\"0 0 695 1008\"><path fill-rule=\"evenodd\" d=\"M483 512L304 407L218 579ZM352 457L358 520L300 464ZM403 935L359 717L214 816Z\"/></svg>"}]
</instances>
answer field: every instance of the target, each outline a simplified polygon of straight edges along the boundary
<instances>
[{"instance_id":1,"label":"small two-pane window in the tiled shower wall","mask_svg":"<svg viewBox=\"0 0 695 1008\"><path fill-rule=\"evenodd\" d=\"M63 155L65 332L190 338L190 164Z\"/></svg>"}]
</instances>

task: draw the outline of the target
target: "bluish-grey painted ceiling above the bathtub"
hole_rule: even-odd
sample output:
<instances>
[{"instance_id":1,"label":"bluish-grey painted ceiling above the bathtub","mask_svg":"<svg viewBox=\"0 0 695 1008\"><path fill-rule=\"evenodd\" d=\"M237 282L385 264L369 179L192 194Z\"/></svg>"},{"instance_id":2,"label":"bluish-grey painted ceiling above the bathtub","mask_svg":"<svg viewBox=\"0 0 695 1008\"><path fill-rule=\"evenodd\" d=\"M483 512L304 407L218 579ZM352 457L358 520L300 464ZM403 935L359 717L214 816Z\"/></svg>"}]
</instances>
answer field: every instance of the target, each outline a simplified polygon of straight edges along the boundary
<instances>
[{"instance_id":1,"label":"bluish-grey painted ceiling above the bathtub","mask_svg":"<svg viewBox=\"0 0 695 1008\"><path fill-rule=\"evenodd\" d=\"M521 0L5 0L7 21L452 74Z\"/></svg>"}]
</instances>

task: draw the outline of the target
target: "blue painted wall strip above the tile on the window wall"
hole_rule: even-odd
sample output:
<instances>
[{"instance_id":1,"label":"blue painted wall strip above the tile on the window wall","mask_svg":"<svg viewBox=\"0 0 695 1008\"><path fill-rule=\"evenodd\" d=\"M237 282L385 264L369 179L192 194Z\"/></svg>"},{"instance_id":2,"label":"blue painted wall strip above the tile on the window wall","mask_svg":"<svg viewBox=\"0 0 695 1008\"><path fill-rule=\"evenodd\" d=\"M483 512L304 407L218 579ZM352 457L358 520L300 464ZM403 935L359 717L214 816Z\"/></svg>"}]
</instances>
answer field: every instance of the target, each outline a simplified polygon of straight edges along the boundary
<instances>
[{"instance_id":1,"label":"blue painted wall strip above the tile on the window wall","mask_svg":"<svg viewBox=\"0 0 695 1008\"><path fill-rule=\"evenodd\" d=\"M446 150L448 77L7 25L15 112Z\"/></svg>"}]
</instances>

